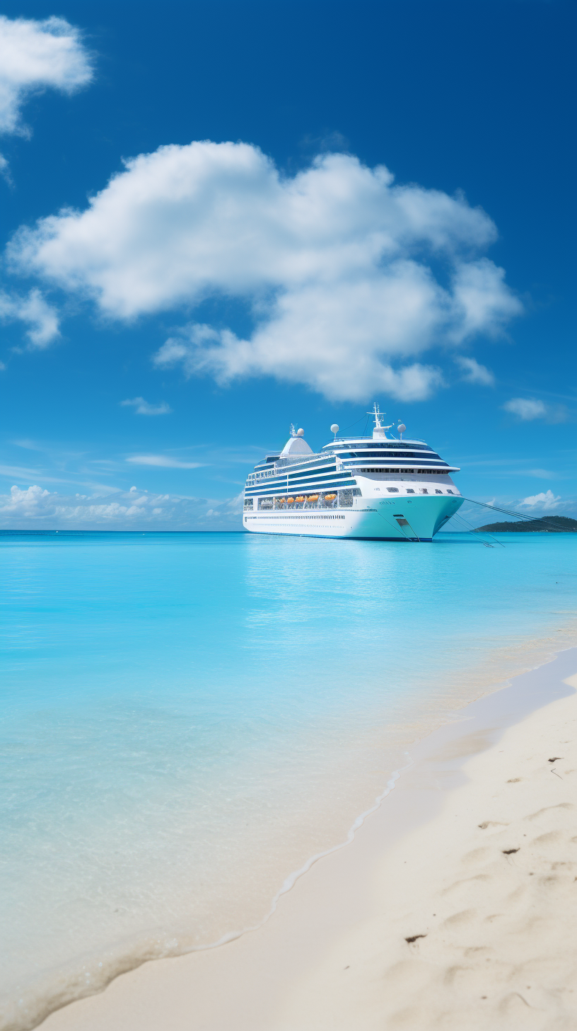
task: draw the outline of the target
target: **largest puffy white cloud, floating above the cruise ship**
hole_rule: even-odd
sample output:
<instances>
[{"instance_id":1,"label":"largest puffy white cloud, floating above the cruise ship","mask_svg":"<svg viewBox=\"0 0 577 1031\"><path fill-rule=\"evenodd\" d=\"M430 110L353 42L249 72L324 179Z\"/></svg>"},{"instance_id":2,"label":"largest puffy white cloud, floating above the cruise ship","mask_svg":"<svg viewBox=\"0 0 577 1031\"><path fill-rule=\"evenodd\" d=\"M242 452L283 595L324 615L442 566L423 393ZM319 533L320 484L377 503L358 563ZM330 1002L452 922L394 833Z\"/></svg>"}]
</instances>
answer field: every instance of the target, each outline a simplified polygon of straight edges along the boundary
<instances>
[{"instance_id":1,"label":"largest puffy white cloud, floating above the cruise ship","mask_svg":"<svg viewBox=\"0 0 577 1031\"><path fill-rule=\"evenodd\" d=\"M256 146L206 141L127 161L83 211L21 229L9 258L114 319L245 303L246 338L195 320L157 365L222 383L273 375L332 399L418 400L442 383L420 361L429 348L495 335L521 311L480 255L496 237L462 196L396 186L351 155L284 177Z\"/></svg>"}]
</instances>

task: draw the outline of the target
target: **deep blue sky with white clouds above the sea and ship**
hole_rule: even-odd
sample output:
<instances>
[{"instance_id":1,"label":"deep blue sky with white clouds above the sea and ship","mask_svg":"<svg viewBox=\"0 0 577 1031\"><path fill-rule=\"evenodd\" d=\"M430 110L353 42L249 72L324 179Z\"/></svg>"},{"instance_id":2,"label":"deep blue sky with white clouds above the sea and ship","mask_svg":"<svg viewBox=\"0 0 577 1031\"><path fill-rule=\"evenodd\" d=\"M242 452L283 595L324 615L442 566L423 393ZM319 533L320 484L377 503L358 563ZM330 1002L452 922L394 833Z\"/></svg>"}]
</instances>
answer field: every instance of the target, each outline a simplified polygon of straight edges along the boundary
<instances>
[{"instance_id":1,"label":"deep blue sky with white clouds above the sea and ship","mask_svg":"<svg viewBox=\"0 0 577 1031\"><path fill-rule=\"evenodd\" d=\"M236 526L373 400L577 514L574 3L3 13L1 525Z\"/></svg>"}]
</instances>

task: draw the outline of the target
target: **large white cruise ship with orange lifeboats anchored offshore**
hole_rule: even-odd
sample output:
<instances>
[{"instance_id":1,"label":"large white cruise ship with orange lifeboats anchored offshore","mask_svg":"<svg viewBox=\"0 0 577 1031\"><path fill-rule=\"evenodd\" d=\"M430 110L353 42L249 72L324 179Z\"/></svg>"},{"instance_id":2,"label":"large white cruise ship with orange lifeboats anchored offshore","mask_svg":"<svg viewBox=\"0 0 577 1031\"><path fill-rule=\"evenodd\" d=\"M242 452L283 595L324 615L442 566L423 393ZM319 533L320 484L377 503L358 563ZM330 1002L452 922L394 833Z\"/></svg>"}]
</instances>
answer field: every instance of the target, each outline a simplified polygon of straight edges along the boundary
<instances>
[{"instance_id":1,"label":"large white cruise ship with orange lifeboats anchored offshore","mask_svg":"<svg viewBox=\"0 0 577 1031\"><path fill-rule=\"evenodd\" d=\"M291 427L281 452L254 466L244 488L243 527L251 533L368 540L432 540L461 508L459 472L406 427L383 425L377 404L372 436L338 437L318 453Z\"/></svg>"}]
</instances>

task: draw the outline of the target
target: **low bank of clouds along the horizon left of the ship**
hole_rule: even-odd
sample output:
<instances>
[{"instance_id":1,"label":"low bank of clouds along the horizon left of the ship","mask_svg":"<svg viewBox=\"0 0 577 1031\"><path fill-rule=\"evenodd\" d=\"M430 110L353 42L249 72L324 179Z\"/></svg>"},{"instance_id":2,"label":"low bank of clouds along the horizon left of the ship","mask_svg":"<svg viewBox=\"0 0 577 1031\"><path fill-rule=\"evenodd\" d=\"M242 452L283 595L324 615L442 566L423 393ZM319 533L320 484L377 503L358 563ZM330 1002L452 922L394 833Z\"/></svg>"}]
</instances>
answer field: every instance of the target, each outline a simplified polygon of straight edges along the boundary
<instances>
[{"instance_id":1,"label":"low bank of clouds along the horizon left of the ship","mask_svg":"<svg viewBox=\"0 0 577 1031\"><path fill-rule=\"evenodd\" d=\"M242 500L183 498L134 491L111 496L60 495L41 487L12 487L0 495L0 526L9 529L240 530Z\"/></svg>"}]
</instances>

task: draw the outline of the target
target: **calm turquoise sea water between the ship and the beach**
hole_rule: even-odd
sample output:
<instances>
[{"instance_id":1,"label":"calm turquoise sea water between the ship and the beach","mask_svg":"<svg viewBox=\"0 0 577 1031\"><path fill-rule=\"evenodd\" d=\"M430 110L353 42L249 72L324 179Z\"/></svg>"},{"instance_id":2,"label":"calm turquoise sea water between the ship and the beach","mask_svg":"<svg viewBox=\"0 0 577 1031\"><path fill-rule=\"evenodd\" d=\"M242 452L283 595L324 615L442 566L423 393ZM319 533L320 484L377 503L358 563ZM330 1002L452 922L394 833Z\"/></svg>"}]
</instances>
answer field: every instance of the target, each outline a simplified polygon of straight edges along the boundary
<instances>
[{"instance_id":1,"label":"calm turquoise sea water between the ship and the beach","mask_svg":"<svg viewBox=\"0 0 577 1031\"><path fill-rule=\"evenodd\" d=\"M575 536L499 540L1 535L5 1026L258 924L410 741L574 642Z\"/></svg>"}]
</instances>

